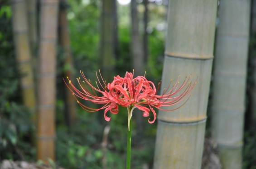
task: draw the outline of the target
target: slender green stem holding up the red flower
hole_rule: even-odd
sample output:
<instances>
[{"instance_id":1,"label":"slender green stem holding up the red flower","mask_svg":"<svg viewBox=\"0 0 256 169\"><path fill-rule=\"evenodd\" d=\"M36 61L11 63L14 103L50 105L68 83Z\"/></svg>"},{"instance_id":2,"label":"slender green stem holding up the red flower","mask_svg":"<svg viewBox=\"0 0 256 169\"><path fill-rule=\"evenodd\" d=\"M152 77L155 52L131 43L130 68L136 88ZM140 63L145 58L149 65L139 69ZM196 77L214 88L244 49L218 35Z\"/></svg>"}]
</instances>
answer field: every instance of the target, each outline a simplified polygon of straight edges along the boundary
<instances>
[{"instance_id":1,"label":"slender green stem holding up the red flower","mask_svg":"<svg viewBox=\"0 0 256 169\"><path fill-rule=\"evenodd\" d=\"M130 169L130 151L131 151L131 116L132 108L127 108L128 110L128 133L127 133L127 155L126 155L126 169Z\"/></svg>"}]
</instances>

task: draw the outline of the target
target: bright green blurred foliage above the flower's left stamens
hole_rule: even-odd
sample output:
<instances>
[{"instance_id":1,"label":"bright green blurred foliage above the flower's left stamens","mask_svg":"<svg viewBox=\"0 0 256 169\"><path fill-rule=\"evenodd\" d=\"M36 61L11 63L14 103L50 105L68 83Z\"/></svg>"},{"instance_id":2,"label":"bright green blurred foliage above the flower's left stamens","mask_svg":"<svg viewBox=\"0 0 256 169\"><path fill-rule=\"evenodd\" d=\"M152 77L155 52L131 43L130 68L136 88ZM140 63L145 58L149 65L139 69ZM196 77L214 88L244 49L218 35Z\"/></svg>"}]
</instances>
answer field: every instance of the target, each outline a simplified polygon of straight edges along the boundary
<instances>
[{"instance_id":1,"label":"bright green blurred foliage above the flower's left stamens","mask_svg":"<svg viewBox=\"0 0 256 169\"><path fill-rule=\"evenodd\" d=\"M69 0L68 19L77 70L97 70L100 40L100 1Z\"/></svg>"}]
</instances>

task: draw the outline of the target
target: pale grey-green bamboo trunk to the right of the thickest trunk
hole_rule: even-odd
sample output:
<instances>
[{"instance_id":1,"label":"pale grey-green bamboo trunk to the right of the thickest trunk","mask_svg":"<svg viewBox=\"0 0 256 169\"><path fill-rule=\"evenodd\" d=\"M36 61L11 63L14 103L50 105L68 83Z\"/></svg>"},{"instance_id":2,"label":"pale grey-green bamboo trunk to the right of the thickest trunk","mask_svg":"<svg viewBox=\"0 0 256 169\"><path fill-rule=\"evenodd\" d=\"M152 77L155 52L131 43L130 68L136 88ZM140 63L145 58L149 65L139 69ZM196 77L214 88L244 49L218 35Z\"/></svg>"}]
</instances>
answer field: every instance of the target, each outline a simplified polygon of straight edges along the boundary
<instances>
[{"instance_id":1,"label":"pale grey-green bamboo trunk to the right of the thickest trunk","mask_svg":"<svg viewBox=\"0 0 256 169\"><path fill-rule=\"evenodd\" d=\"M212 136L223 169L242 168L250 0L222 0L213 80Z\"/></svg>"}]
</instances>

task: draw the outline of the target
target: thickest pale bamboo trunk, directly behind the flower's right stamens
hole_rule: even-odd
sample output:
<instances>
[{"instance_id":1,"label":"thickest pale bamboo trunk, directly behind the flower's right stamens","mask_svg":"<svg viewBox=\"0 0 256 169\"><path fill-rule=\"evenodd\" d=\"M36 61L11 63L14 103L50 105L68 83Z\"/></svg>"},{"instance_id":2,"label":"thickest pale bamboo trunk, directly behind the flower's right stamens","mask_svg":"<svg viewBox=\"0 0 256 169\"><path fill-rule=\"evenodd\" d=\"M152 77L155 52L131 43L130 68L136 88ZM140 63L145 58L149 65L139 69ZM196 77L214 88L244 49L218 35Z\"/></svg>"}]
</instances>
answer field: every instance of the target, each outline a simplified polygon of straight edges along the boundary
<instances>
[{"instance_id":1,"label":"thickest pale bamboo trunk, directly behind the flower's right stamens","mask_svg":"<svg viewBox=\"0 0 256 169\"><path fill-rule=\"evenodd\" d=\"M179 74L198 82L180 109L159 111L154 169L200 169L217 0L169 0L168 10L162 88Z\"/></svg>"}]
</instances>

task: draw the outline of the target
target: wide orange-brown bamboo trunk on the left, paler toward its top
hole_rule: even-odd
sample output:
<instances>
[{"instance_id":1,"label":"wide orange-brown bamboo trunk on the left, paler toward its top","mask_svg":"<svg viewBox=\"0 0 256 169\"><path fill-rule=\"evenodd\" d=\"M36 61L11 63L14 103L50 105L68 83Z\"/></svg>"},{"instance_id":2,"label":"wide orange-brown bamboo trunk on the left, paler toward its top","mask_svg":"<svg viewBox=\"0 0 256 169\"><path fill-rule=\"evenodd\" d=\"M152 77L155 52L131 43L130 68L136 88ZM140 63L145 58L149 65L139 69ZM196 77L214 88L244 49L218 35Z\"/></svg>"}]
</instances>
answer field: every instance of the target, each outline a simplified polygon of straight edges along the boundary
<instances>
[{"instance_id":1,"label":"wide orange-brown bamboo trunk on the left, paler toward its top","mask_svg":"<svg viewBox=\"0 0 256 169\"><path fill-rule=\"evenodd\" d=\"M40 1L37 159L55 160L55 74L58 0Z\"/></svg>"}]
</instances>

